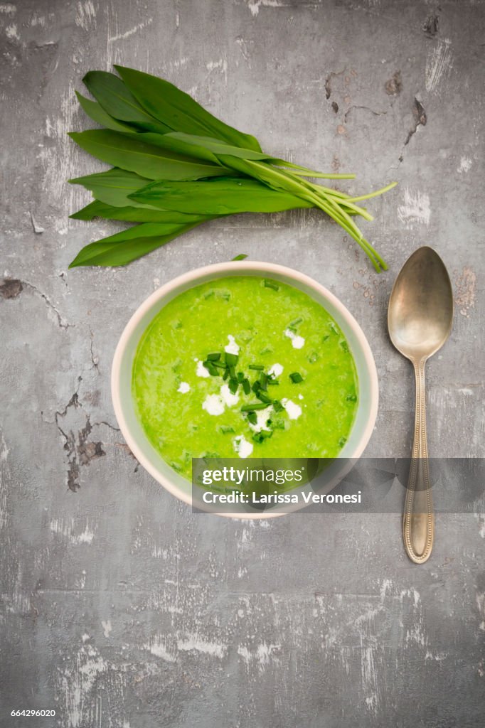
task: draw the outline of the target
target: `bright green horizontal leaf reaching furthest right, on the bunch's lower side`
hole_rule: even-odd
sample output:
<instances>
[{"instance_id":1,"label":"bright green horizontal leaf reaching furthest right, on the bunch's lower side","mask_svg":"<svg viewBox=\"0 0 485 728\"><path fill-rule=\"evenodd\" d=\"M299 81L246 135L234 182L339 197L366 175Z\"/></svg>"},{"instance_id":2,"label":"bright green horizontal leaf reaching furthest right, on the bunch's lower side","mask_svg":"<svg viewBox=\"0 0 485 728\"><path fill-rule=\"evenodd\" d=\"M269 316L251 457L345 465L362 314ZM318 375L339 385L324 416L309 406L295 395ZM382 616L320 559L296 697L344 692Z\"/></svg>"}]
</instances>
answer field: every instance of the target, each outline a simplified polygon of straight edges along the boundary
<instances>
[{"instance_id":1,"label":"bright green horizontal leaf reaching furthest right, on the bunch's lower side","mask_svg":"<svg viewBox=\"0 0 485 728\"><path fill-rule=\"evenodd\" d=\"M245 178L221 178L198 182L157 181L129 195L146 205L181 213L232 215L276 213L293 207L312 207L311 202L288 192Z\"/></svg>"}]
</instances>

